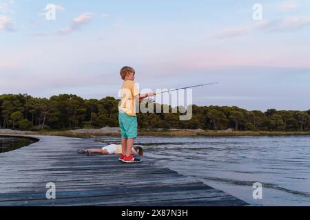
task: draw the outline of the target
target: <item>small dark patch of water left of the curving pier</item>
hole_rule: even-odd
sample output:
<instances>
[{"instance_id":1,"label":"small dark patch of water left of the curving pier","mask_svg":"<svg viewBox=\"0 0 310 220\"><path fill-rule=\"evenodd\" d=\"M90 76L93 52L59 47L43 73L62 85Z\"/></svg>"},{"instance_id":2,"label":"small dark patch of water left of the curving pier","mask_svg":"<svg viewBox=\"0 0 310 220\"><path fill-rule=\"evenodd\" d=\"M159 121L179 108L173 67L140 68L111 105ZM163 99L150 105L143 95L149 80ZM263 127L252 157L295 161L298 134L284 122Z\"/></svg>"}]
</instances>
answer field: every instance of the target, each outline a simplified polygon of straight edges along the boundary
<instances>
[{"instance_id":1,"label":"small dark patch of water left of the curving pier","mask_svg":"<svg viewBox=\"0 0 310 220\"><path fill-rule=\"evenodd\" d=\"M34 142L34 140L23 137L0 136L0 153L14 151L23 146L33 144Z\"/></svg>"}]
</instances>

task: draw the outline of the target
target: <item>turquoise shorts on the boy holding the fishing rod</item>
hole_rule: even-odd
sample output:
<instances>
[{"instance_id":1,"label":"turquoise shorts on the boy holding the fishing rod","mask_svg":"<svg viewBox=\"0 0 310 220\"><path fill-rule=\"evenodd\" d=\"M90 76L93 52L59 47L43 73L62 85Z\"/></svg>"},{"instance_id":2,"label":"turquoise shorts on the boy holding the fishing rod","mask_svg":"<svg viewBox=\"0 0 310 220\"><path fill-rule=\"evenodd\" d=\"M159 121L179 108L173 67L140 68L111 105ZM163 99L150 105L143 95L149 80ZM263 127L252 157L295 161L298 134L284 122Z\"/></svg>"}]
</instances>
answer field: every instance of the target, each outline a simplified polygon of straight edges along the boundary
<instances>
[{"instance_id":1,"label":"turquoise shorts on the boy holding the fishing rod","mask_svg":"<svg viewBox=\"0 0 310 220\"><path fill-rule=\"evenodd\" d=\"M119 111L118 122L122 138L132 139L138 137L138 120L136 116L129 116L124 111Z\"/></svg>"}]
</instances>

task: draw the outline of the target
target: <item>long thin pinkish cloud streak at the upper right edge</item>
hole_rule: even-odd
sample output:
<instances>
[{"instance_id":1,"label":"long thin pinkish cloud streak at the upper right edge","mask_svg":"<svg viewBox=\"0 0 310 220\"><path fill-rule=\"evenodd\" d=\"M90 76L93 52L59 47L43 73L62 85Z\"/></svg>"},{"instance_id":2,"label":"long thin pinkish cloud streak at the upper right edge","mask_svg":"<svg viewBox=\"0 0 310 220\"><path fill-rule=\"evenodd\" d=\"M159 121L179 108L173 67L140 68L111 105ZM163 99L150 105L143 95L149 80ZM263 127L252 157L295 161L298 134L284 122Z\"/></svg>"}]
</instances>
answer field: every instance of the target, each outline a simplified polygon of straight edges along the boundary
<instances>
[{"instance_id":1,"label":"long thin pinkish cloud streak at the upper right edge","mask_svg":"<svg viewBox=\"0 0 310 220\"><path fill-rule=\"evenodd\" d=\"M247 25L225 28L216 35L218 39L227 39L235 36L242 36L262 30L265 32L295 32L310 26L310 17L288 17L271 21L258 21Z\"/></svg>"}]
</instances>

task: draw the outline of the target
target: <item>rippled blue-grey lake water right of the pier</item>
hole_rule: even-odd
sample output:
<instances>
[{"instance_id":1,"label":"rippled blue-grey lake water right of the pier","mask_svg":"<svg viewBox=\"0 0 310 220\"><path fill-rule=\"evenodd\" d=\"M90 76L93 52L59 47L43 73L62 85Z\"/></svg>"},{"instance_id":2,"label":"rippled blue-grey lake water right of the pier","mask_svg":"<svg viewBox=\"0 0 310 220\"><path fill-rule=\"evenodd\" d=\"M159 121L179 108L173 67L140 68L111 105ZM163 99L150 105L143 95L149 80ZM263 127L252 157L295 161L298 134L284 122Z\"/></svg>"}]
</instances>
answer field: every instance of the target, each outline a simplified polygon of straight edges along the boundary
<instances>
[{"instance_id":1,"label":"rippled blue-grey lake water right of the pier","mask_svg":"<svg viewBox=\"0 0 310 220\"><path fill-rule=\"evenodd\" d=\"M117 137L93 137L119 144ZM310 206L310 136L138 137L145 156L254 206ZM262 184L254 199L253 184Z\"/></svg>"}]
</instances>

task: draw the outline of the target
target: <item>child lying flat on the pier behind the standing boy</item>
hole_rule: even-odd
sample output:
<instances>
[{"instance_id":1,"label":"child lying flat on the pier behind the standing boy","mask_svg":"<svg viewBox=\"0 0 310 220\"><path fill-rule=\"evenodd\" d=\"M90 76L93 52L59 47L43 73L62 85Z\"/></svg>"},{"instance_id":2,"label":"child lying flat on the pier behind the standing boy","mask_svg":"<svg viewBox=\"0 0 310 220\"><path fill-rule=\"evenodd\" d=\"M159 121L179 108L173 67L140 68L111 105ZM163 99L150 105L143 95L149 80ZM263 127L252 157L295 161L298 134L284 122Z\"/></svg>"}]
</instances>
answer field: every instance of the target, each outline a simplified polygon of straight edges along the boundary
<instances>
[{"instance_id":1,"label":"child lying flat on the pier behind the standing boy","mask_svg":"<svg viewBox=\"0 0 310 220\"><path fill-rule=\"evenodd\" d=\"M91 155L92 153L101 153L103 155L107 154L120 154L122 153L122 146L121 144L116 145L116 144L110 144L108 146L105 146L101 149L79 149L77 153L85 153L87 156ZM143 148L141 146L134 146L132 148L132 153L143 156Z\"/></svg>"}]
</instances>

